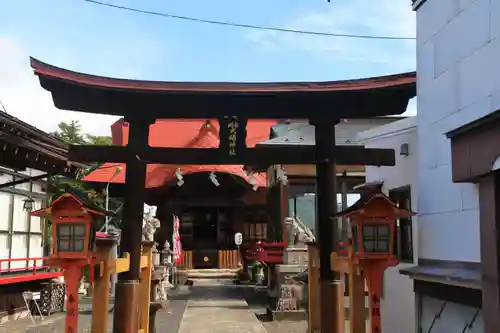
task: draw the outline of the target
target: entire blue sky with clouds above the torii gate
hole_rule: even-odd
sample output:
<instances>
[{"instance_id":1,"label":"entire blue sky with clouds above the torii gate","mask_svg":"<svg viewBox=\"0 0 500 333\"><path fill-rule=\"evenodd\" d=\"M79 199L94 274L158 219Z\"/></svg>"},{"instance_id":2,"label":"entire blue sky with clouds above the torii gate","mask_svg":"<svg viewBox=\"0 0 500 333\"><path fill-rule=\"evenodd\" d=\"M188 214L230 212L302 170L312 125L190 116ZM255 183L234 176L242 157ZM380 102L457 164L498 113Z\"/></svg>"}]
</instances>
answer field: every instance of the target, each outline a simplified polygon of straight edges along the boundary
<instances>
[{"instance_id":1,"label":"entire blue sky with clouds above the torii gate","mask_svg":"<svg viewBox=\"0 0 500 333\"><path fill-rule=\"evenodd\" d=\"M106 1L106 0L103 0ZM221 21L291 29L414 36L409 1L108 0ZM61 119L106 134L112 118L55 110L28 56L93 74L181 81L303 81L415 69L413 41L355 40L249 30L155 17L82 0L0 1L0 99L44 130ZM28 97L29 96L29 97ZM42 116L41 112L47 116Z\"/></svg>"}]
</instances>

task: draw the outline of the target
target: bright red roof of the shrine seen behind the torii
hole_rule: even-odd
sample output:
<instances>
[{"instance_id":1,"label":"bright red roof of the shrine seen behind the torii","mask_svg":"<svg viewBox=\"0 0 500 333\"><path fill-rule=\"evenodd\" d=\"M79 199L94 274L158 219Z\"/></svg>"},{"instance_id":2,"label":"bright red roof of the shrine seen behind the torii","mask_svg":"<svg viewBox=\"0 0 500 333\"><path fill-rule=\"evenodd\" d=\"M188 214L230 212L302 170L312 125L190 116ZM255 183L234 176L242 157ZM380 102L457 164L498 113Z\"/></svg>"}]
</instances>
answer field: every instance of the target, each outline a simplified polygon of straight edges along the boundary
<instances>
[{"instance_id":1,"label":"bright red roof of the shrine seen behind the torii","mask_svg":"<svg viewBox=\"0 0 500 333\"><path fill-rule=\"evenodd\" d=\"M247 145L254 147L258 142L269 138L271 127L276 120L249 120L247 124ZM113 144L126 145L129 127L123 119L112 125ZM216 148L219 146L219 124L215 120L199 119L158 119L151 125L149 145L153 147L178 148ZM122 170L116 174L117 168ZM168 184L175 180L175 171L181 168L182 174L197 172L229 173L249 182L249 177L243 171L242 165L163 165L149 164L147 167L146 187L154 188ZM124 183L125 164L104 163L83 178L89 182ZM266 186L265 173L254 175L255 184Z\"/></svg>"}]
</instances>

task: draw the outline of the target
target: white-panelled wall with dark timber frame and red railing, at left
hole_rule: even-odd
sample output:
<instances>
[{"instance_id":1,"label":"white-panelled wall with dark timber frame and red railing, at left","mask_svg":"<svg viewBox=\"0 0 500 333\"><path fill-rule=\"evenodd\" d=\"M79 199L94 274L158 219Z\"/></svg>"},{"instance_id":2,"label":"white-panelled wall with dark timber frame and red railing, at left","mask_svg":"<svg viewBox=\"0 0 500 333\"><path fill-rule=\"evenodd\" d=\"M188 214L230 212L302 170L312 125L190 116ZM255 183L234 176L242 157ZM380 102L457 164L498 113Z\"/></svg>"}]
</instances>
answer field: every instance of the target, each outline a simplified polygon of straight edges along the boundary
<instances>
[{"instance_id":1,"label":"white-panelled wall with dark timber frame and red railing, at left","mask_svg":"<svg viewBox=\"0 0 500 333\"><path fill-rule=\"evenodd\" d=\"M46 180L35 169L15 171L0 166L0 324L24 318L28 311L21 297L26 283L46 271L45 219L29 216L47 201ZM6 186L15 181L25 182ZM31 206L31 207L30 207ZM26 260L30 258L30 260ZM31 284L29 288L33 288ZM33 290L33 289L31 289Z\"/></svg>"}]
</instances>

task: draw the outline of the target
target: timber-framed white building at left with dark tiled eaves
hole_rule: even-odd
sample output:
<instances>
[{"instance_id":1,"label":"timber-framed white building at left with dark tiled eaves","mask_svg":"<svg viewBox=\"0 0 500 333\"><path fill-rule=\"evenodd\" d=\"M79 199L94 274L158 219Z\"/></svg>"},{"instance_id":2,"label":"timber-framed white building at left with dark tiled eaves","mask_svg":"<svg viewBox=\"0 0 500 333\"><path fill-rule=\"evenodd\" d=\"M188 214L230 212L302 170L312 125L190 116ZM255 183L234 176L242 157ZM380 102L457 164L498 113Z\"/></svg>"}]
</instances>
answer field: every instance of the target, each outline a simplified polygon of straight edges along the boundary
<instances>
[{"instance_id":1,"label":"timber-framed white building at left with dark tiled eaves","mask_svg":"<svg viewBox=\"0 0 500 333\"><path fill-rule=\"evenodd\" d=\"M0 134L1 324L28 313L23 291L41 290L41 282L60 275L36 259L48 253L49 227L28 214L45 205L47 177L70 176L88 166L69 163L67 144L5 112L0 112Z\"/></svg>"}]
</instances>

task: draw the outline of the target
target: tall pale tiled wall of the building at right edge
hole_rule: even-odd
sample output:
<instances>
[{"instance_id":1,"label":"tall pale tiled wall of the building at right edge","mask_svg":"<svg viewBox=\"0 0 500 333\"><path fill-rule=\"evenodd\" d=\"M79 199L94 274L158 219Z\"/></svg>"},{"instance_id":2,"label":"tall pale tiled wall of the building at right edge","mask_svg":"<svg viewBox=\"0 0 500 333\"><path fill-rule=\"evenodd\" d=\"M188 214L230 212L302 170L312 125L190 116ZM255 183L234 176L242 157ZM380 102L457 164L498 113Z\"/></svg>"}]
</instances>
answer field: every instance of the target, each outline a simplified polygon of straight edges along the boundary
<instances>
[{"instance_id":1,"label":"tall pale tiled wall of the building at right edge","mask_svg":"<svg viewBox=\"0 0 500 333\"><path fill-rule=\"evenodd\" d=\"M452 183L444 133L500 109L500 1L427 0L417 50L419 256L477 262L477 187Z\"/></svg>"}]
</instances>

